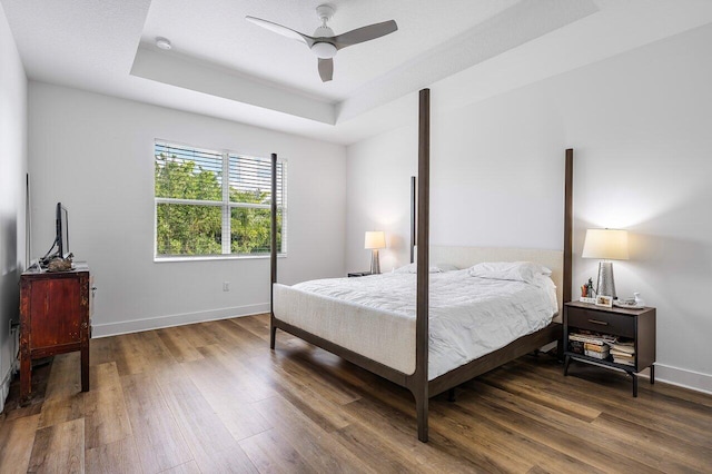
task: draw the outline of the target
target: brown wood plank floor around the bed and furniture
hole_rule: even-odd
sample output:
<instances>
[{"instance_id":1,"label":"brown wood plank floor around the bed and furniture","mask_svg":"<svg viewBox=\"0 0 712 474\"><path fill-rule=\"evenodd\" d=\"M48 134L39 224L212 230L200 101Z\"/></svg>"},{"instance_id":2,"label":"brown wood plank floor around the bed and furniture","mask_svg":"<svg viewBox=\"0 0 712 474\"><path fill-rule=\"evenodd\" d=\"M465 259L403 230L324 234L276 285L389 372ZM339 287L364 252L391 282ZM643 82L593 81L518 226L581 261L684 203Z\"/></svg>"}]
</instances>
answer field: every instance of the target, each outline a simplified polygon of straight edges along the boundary
<instances>
[{"instance_id":1,"label":"brown wood plank floor around the bed and furniture","mask_svg":"<svg viewBox=\"0 0 712 474\"><path fill-rule=\"evenodd\" d=\"M712 396L527 356L431 401L255 316L91 340L12 387L0 472L711 472Z\"/></svg>"}]
</instances>

